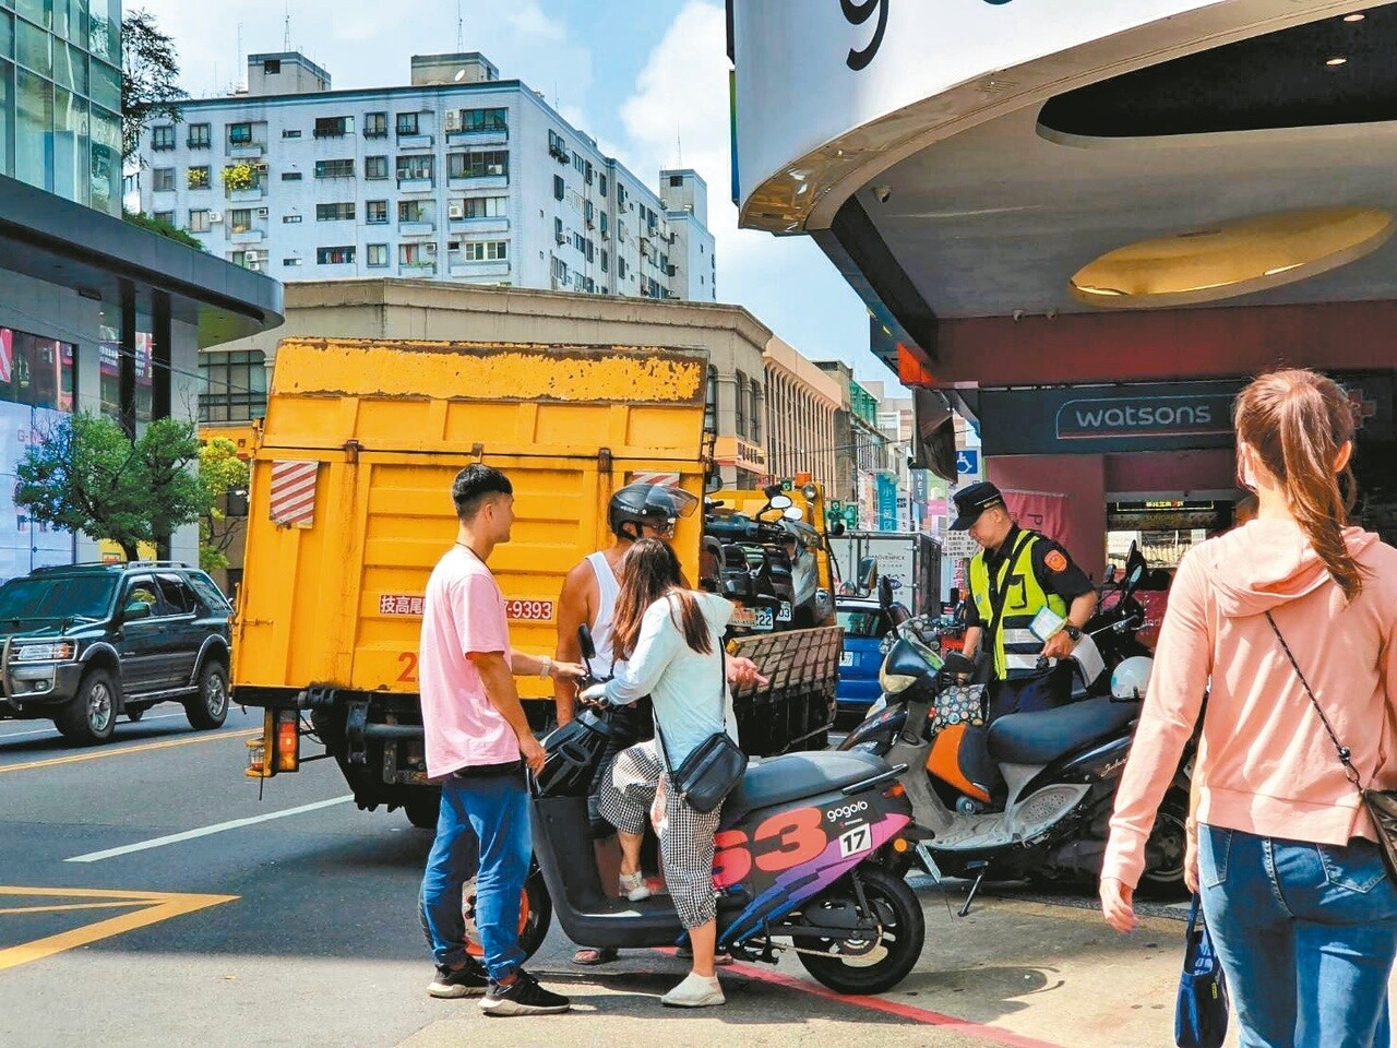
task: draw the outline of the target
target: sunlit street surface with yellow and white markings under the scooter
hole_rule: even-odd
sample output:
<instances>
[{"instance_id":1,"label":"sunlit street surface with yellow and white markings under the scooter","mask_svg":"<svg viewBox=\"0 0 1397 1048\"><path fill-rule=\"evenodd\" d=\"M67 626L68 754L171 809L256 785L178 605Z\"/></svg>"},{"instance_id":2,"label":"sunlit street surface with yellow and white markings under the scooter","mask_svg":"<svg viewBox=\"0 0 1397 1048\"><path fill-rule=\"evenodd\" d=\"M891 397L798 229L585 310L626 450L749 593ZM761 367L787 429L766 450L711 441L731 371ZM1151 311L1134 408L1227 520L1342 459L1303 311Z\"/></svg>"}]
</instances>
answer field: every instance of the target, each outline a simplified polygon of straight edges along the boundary
<instances>
[{"instance_id":1,"label":"sunlit street surface with yellow and white markings under the scooter","mask_svg":"<svg viewBox=\"0 0 1397 1048\"><path fill-rule=\"evenodd\" d=\"M430 834L359 812L331 762L242 774L258 718L194 732L177 706L74 748L0 722L0 1045L1155 1045L1168 1044L1176 919L1109 933L1080 897L986 897L951 917L923 896L918 970L877 999L840 999L792 960L729 970L729 1003L658 1007L683 966L638 950L569 963L556 931L531 963L573 1016L485 1020L432 1000L415 900ZM963 886L949 887L958 904ZM546 1024L546 1026L541 1026Z\"/></svg>"}]
</instances>

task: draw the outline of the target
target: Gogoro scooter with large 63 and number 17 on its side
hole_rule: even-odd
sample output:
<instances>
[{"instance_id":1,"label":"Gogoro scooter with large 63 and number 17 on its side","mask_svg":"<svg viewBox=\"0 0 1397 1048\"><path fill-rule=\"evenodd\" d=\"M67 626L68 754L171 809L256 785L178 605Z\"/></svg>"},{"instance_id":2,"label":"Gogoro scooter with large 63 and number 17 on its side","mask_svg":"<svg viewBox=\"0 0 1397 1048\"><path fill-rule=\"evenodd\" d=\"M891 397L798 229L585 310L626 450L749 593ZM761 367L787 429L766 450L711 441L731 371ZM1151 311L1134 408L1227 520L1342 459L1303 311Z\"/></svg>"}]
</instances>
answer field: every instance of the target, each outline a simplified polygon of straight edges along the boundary
<instances>
[{"instance_id":1,"label":"Gogoro scooter with large 63 and number 17 on its side","mask_svg":"<svg viewBox=\"0 0 1397 1048\"><path fill-rule=\"evenodd\" d=\"M591 657L591 637L580 632ZM638 903L602 889L587 791L610 710L585 708L543 741L532 780L534 852L552 910L590 946L671 946L683 938L668 897ZM792 753L753 763L728 795L717 834L718 945L775 963L795 950L841 994L882 994L916 964L925 939L911 887L876 857L912 823L905 769L855 752Z\"/></svg>"}]
</instances>

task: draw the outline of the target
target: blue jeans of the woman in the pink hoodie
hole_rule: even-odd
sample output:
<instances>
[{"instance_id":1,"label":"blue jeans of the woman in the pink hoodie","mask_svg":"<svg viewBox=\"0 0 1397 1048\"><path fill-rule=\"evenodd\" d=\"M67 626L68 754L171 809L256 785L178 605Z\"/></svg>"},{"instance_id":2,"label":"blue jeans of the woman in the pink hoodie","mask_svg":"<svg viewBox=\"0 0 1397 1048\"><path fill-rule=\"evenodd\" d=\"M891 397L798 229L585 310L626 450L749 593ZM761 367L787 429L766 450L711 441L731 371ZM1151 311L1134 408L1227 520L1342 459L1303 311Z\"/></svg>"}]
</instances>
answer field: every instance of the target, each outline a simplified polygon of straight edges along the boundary
<instances>
[{"instance_id":1,"label":"blue jeans of the woman in the pink hoodie","mask_svg":"<svg viewBox=\"0 0 1397 1048\"><path fill-rule=\"evenodd\" d=\"M1387 1048L1397 889L1376 844L1200 826L1199 883L1242 1048Z\"/></svg>"}]
</instances>

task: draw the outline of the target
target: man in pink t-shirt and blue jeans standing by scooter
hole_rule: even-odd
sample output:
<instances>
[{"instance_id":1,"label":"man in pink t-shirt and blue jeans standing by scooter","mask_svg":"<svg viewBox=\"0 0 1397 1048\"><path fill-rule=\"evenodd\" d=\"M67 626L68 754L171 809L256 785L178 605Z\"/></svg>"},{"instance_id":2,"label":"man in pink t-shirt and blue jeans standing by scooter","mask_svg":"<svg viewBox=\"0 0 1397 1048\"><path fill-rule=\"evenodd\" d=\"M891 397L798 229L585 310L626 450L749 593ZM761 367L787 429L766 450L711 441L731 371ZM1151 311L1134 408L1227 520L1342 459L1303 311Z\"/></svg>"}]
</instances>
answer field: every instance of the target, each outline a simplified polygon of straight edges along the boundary
<instances>
[{"instance_id":1,"label":"man in pink t-shirt and blue jeans standing by scooter","mask_svg":"<svg viewBox=\"0 0 1397 1048\"><path fill-rule=\"evenodd\" d=\"M510 539L509 478L468 465L457 474L451 499L460 527L427 580L418 668L427 776L441 780L437 834L422 879L422 919L437 966L427 992L485 992L481 1007L492 1016L566 1012L567 998L520 967L520 896L532 854L524 766L542 769L543 748L524 715L514 674L576 678L584 669L510 647L504 597L486 567L495 546ZM485 973L465 953L461 889L472 872Z\"/></svg>"}]
</instances>

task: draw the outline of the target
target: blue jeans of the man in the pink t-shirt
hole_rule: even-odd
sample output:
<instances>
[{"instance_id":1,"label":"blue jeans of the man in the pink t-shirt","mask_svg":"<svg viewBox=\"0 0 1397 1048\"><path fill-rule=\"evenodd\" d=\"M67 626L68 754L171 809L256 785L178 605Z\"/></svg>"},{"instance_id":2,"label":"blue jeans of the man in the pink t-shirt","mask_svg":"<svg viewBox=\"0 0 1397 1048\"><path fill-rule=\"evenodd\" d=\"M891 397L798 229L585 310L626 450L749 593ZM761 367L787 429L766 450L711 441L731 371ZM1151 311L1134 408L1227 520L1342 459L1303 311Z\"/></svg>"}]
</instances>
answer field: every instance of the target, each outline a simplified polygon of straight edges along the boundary
<instances>
[{"instance_id":1,"label":"blue jeans of the man in the pink t-shirt","mask_svg":"<svg viewBox=\"0 0 1397 1048\"><path fill-rule=\"evenodd\" d=\"M532 852L528 789L520 774L447 776L437 836L422 878L422 921L437 964L455 967L467 959L461 887L472 873L476 924L490 978L509 978L524 961L520 894Z\"/></svg>"}]
</instances>

